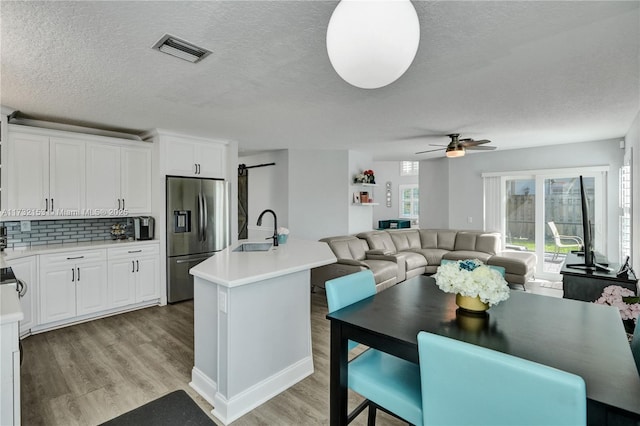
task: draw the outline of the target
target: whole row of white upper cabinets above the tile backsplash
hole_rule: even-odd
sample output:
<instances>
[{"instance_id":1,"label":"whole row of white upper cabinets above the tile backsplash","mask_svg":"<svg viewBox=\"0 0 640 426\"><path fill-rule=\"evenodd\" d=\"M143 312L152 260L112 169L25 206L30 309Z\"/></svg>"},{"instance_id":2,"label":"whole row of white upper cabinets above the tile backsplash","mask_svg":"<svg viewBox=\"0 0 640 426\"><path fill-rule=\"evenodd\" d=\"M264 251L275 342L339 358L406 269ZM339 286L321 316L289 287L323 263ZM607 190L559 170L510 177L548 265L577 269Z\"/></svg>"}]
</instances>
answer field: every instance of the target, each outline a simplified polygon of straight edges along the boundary
<instances>
[{"instance_id":1,"label":"whole row of white upper cabinets above the tile backsplash","mask_svg":"<svg viewBox=\"0 0 640 426\"><path fill-rule=\"evenodd\" d=\"M7 158L12 216L151 213L149 143L10 125Z\"/></svg>"}]
</instances>

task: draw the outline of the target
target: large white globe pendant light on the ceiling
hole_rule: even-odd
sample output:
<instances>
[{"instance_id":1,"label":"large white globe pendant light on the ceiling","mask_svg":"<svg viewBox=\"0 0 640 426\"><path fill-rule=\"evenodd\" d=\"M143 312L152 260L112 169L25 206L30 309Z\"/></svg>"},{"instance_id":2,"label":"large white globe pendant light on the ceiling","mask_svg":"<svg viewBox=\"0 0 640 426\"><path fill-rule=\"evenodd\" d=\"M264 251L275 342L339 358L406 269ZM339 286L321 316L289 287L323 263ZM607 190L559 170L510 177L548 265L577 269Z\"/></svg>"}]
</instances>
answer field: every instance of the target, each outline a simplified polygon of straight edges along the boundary
<instances>
[{"instance_id":1,"label":"large white globe pendant light on the ceiling","mask_svg":"<svg viewBox=\"0 0 640 426\"><path fill-rule=\"evenodd\" d=\"M347 83L362 89L400 78L419 42L420 23L409 0L342 0L327 28L331 65Z\"/></svg>"}]
</instances>

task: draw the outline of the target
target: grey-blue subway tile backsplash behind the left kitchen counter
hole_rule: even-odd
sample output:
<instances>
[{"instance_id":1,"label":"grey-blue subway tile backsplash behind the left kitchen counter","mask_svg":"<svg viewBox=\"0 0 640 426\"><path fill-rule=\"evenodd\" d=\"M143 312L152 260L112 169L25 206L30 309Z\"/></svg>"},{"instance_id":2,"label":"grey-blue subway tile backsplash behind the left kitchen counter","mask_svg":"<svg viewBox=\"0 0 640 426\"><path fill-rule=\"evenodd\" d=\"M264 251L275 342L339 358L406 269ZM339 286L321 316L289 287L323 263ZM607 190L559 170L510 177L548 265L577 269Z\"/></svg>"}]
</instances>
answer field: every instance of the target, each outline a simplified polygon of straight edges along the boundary
<instances>
[{"instance_id":1,"label":"grey-blue subway tile backsplash behind the left kitchen counter","mask_svg":"<svg viewBox=\"0 0 640 426\"><path fill-rule=\"evenodd\" d=\"M32 220L31 231L21 231L20 222L3 222L7 227L7 248L45 244L78 243L111 239L111 225L127 218ZM131 224L127 230L131 229Z\"/></svg>"}]
</instances>

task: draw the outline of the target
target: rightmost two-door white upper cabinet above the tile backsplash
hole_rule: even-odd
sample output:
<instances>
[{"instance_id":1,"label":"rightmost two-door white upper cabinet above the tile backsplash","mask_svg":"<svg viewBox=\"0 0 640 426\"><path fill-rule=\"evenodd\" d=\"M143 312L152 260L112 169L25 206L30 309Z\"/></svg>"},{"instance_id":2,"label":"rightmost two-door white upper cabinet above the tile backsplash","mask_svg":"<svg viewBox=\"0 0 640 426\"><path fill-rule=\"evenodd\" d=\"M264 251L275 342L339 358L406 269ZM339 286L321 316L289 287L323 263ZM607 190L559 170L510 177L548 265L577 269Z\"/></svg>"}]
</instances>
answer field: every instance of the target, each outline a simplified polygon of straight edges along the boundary
<instances>
[{"instance_id":1,"label":"rightmost two-door white upper cabinet above the tile backsplash","mask_svg":"<svg viewBox=\"0 0 640 426\"><path fill-rule=\"evenodd\" d=\"M87 208L151 212L151 147L87 145Z\"/></svg>"}]
</instances>

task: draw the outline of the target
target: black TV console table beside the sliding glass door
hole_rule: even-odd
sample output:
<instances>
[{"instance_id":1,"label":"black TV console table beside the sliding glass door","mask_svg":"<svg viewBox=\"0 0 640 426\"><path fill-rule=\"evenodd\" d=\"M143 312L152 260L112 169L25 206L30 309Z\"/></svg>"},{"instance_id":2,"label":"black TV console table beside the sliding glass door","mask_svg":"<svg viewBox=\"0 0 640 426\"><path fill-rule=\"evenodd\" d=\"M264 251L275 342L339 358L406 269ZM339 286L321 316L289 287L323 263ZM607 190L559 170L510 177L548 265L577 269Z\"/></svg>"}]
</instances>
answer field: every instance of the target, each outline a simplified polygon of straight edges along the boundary
<instances>
[{"instance_id":1,"label":"black TV console table beside the sliding glass door","mask_svg":"<svg viewBox=\"0 0 640 426\"><path fill-rule=\"evenodd\" d=\"M587 271L567 267L567 265L574 263L584 263L584 257L574 253L567 254L564 265L560 270L565 299L593 302L600 297L602 290L610 285L619 285L638 294L638 280L636 277L633 275L629 275L628 278L616 276L616 271L620 265L609 264L608 266L613 269L613 272Z\"/></svg>"}]
</instances>

